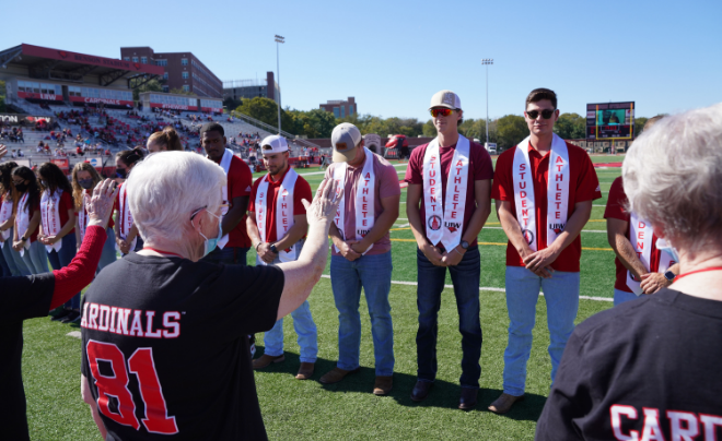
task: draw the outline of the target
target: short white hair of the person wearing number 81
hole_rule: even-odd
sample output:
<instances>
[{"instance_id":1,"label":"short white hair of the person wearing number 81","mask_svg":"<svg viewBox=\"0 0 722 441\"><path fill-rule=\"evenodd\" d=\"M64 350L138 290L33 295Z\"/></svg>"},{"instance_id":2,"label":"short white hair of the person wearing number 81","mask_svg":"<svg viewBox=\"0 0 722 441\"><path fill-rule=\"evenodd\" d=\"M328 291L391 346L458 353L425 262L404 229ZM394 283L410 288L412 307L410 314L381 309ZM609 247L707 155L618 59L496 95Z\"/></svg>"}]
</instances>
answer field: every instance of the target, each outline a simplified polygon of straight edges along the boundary
<instances>
[{"instance_id":1,"label":"short white hair of the person wearing number 81","mask_svg":"<svg viewBox=\"0 0 722 441\"><path fill-rule=\"evenodd\" d=\"M212 160L188 152L159 152L132 168L128 205L140 236L180 242L193 229L190 215L222 203L225 172Z\"/></svg>"}]
</instances>

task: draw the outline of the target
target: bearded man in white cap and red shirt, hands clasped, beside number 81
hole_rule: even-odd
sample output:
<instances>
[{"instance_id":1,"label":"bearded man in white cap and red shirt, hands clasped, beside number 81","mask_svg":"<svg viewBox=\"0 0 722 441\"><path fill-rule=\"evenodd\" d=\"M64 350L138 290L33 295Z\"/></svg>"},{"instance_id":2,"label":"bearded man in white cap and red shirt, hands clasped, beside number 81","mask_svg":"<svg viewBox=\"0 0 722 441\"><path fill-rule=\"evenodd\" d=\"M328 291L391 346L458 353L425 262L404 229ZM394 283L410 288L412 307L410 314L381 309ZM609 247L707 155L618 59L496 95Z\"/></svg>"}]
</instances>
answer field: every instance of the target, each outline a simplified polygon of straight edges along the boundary
<instances>
[{"instance_id":1,"label":"bearded man in white cap and red shirt, hands clasped, beside number 81","mask_svg":"<svg viewBox=\"0 0 722 441\"><path fill-rule=\"evenodd\" d=\"M253 184L246 219L248 236L258 253L256 264L292 262L299 259L308 229L306 208L301 201L313 200L311 186L289 167L289 144L283 136L267 136L260 145L268 175ZM295 378L307 380L313 376L318 354L318 335L308 300L291 312L291 317L301 348L301 367ZM264 334L264 355L253 360L254 369L286 360L283 319Z\"/></svg>"}]
</instances>

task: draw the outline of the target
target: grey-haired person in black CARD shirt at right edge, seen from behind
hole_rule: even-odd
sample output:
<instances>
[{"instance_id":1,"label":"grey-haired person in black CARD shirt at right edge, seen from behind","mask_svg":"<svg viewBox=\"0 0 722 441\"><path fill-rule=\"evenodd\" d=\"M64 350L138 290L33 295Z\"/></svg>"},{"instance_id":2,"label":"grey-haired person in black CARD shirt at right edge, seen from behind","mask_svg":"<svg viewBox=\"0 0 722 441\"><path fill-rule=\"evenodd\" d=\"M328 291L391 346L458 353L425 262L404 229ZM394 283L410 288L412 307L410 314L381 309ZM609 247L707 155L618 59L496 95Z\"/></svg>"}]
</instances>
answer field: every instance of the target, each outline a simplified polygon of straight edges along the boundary
<instances>
[{"instance_id":1,"label":"grey-haired person in black CARD shirt at right edge, seen from behind","mask_svg":"<svg viewBox=\"0 0 722 441\"><path fill-rule=\"evenodd\" d=\"M665 117L622 166L628 210L680 274L574 330L537 440L715 440L722 433L722 104Z\"/></svg>"}]
</instances>

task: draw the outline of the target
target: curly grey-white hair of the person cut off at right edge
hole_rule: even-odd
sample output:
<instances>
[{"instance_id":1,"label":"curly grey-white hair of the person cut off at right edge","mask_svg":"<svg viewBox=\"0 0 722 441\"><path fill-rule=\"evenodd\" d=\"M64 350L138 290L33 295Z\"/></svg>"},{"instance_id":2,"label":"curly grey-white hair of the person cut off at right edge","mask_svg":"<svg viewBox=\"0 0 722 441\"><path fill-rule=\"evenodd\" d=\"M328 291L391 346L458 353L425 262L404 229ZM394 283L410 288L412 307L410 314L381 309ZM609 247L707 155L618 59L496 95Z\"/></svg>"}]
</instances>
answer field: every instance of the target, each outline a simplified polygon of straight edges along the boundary
<instances>
[{"instance_id":1,"label":"curly grey-white hair of the person cut off at right edge","mask_svg":"<svg viewBox=\"0 0 722 441\"><path fill-rule=\"evenodd\" d=\"M629 210L678 249L722 245L722 104L662 118L621 168Z\"/></svg>"}]
</instances>

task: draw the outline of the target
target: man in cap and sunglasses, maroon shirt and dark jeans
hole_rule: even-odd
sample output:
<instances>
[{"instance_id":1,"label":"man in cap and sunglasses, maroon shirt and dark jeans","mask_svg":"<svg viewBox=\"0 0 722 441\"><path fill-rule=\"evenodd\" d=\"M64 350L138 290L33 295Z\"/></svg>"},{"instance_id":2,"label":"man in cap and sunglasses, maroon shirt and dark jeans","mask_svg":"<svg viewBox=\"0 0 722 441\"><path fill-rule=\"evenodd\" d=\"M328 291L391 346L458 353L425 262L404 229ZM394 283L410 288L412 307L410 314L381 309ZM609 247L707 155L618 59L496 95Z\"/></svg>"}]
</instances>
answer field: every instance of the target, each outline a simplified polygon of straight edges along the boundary
<instances>
[{"instance_id":1,"label":"man in cap and sunglasses, maroon shirt and dark jeans","mask_svg":"<svg viewBox=\"0 0 722 441\"><path fill-rule=\"evenodd\" d=\"M491 212L493 169L482 146L458 133L462 100L451 91L431 97L436 138L414 150L406 168L406 214L416 238L419 331L416 334L418 381L411 400L429 395L436 377L436 315L446 269L454 284L462 333L459 408L476 406L481 367L479 322L479 248L477 236Z\"/></svg>"}]
</instances>

